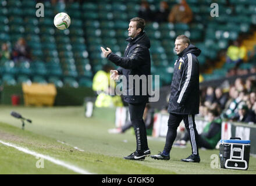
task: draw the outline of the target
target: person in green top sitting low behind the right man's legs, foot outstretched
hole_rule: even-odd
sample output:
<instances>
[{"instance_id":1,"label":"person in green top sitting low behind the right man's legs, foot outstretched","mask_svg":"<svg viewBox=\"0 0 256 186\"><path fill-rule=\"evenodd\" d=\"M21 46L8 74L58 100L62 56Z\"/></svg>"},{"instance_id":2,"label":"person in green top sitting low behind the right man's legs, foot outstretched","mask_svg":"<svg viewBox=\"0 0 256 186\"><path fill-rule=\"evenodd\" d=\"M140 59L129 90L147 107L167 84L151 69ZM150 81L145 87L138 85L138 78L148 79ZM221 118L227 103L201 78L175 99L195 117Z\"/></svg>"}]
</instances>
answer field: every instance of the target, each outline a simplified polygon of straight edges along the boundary
<instances>
[{"instance_id":1,"label":"person in green top sitting low behind the right man's legs, foot outstretched","mask_svg":"<svg viewBox=\"0 0 256 186\"><path fill-rule=\"evenodd\" d=\"M198 146L200 148L215 149L215 146L221 140L221 117L218 117L217 110L208 110L208 123L204 127L204 130L198 135ZM182 140L177 141L175 146L185 146L189 141L189 133L185 133Z\"/></svg>"}]
</instances>

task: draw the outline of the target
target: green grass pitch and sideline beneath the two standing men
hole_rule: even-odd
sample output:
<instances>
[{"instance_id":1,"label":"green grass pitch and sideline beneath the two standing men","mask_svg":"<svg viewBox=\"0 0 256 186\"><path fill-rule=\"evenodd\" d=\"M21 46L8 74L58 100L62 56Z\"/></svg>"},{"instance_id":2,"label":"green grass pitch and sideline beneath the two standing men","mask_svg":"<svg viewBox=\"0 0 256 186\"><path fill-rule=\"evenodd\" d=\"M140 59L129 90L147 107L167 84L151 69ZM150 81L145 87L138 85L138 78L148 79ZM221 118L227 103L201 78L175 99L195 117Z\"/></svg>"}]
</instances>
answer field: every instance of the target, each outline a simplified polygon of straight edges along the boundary
<instances>
[{"instance_id":1,"label":"green grass pitch and sideline beneath the two standing men","mask_svg":"<svg viewBox=\"0 0 256 186\"><path fill-rule=\"evenodd\" d=\"M213 169L211 156L219 155L217 149L200 149L200 163L181 162L181 158L190 155L190 144L187 148L173 147L169 161L149 157L144 161L125 160L123 156L135 150L136 142L132 130L125 134L108 134L108 129L115 127L115 109L97 108L91 118L84 117L82 106L0 106L0 109L1 141L51 156L93 174L256 174L256 158L253 156L246 171ZM12 110L33 123L27 123L22 130L21 122L10 116ZM164 139L150 137L151 154L162 151L164 143ZM44 160L44 168L38 168L38 160L0 143L0 174L77 174L48 160Z\"/></svg>"}]
</instances>

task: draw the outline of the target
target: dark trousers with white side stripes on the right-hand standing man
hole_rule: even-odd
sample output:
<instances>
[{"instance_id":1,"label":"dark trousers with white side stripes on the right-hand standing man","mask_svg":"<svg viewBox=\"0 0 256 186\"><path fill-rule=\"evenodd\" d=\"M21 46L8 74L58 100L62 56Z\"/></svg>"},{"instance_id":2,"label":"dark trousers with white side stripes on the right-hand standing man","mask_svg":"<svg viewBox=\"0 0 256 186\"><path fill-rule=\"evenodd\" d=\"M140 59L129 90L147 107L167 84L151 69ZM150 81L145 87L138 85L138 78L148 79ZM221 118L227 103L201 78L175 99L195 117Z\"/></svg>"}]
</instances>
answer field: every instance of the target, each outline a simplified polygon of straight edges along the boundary
<instances>
[{"instance_id":1,"label":"dark trousers with white side stripes on the right-hand standing man","mask_svg":"<svg viewBox=\"0 0 256 186\"><path fill-rule=\"evenodd\" d=\"M189 133L192 154L198 155L198 133L197 128L195 128L195 115L176 115L170 113L164 151L166 153L170 153L170 149L172 149L173 142L177 135L177 128L182 120L184 121L187 132Z\"/></svg>"}]
</instances>

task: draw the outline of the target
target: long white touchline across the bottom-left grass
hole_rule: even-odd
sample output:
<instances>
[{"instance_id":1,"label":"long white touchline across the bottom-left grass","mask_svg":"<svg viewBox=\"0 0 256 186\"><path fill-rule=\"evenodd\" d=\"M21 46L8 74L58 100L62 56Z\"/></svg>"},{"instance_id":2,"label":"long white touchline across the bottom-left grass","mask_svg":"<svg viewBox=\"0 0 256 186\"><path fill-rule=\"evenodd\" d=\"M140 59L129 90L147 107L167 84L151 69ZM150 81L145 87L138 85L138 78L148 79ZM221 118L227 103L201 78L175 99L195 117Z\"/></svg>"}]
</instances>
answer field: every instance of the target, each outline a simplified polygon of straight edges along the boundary
<instances>
[{"instance_id":1,"label":"long white touchline across the bottom-left grass","mask_svg":"<svg viewBox=\"0 0 256 186\"><path fill-rule=\"evenodd\" d=\"M3 145L11 146L11 147L16 148L17 150L22 151L24 153L28 153L28 154L33 155L33 156L44 158L44 159L48 160L49 162L52 162L52 163L58 164L60 166L66 167L67 169L73 170L76 173L79 173L79 174L93 174L93 173L88 172L87 170L84 170L84 169L81 169L79 167L73 166L72 164L68 164L68 163L65 163L61 160L52 158L51 156L42 155L41 153L30 151L29 149L26 149L26 148L23 148L23 147L14 145L14 144L10 144L8 142L4 142L4 141L1 141L1 140L0 140L0 142Z\"/></svg>"}]
</instances>

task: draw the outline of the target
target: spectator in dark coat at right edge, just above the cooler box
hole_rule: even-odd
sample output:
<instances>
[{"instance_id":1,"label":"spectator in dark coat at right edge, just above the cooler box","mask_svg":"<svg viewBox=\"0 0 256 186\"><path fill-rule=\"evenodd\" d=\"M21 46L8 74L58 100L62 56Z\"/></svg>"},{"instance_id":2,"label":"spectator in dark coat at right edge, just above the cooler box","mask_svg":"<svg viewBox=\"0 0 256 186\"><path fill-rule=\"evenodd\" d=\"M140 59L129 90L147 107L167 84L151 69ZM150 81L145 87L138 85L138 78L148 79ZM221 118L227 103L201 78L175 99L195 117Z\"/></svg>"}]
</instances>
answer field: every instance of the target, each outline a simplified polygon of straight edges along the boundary
<instances>
[{"instance_id":1,"label":"spectator in dark coat at right edge, just above the cooler box","mask_svg":"<svg viewBox=\"0 0 256 186\"><path fill-rule=\"evenodd\" d=\"M248 109L245 102L239 103L235 120L243 123L256 123L255 113L253 110Z\"/></svg>"}]
</instances>

